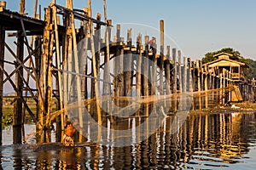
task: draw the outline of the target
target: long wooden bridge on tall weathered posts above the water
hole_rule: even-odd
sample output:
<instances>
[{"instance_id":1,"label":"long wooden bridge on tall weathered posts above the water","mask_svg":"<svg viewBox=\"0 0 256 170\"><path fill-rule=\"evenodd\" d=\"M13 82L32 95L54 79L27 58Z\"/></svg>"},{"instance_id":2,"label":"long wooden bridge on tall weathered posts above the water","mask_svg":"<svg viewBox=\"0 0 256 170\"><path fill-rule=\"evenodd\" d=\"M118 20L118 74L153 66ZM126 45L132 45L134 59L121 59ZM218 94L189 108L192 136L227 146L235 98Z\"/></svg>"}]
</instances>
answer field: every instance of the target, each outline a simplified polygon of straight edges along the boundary
<instances>
[{"instance_id":1,"label":"long wooden bridge on tall weathered posts above the water","mask_svg":"<svg viewBox=\"0 0 256 170\"><path fill-rule=\"evenodd\" d=\"M162 99L169 108L166 112L175 113L182 105L180 95L188 92L193 94L191 110L224 105L232 95L238 100L249 100L255 94L254 80L235 82L228 70L209 71L200 59L182 57L176 48L167 46L165 51L164 20L160 20L158 52L156 42L149 44L148 36L138 35L133 44L131 29L125 41L120 25L112 39L113 26L107 18L106 1L103 21L101 14L92 17L90 0L83 9L73 8L72 0L67 0L66 7L53 1L44 9L44 20L41 12L37 13L37 1L33 17L25 15L24 1L20 4L20 13L9 11L3 2L0 8L0 116L3 84L9 82L16 96L14 144L22 142L26 111L37 124L38 143L44 143L50 142L49 127L53 120L57 122L57 135L63 134L67 106L73 103L79 105L77 116L83 127L82 105L102 124L102 107L111 107L111 102L124 107L132 99L143 99L148 116L149 104L154 99ZM80 26L75 26L76 21L80 21ZM6 35L17 37L15 49L6 42ZM13 58L8 59L6 52ZM9 65L13 65L14 71L5 69ZM37 103L36 113L26 104L27 94ZM100 104L104 96L111 99ZM52 108L53 98L57 99L57 108Z\"/></svg>"}]
</instances>

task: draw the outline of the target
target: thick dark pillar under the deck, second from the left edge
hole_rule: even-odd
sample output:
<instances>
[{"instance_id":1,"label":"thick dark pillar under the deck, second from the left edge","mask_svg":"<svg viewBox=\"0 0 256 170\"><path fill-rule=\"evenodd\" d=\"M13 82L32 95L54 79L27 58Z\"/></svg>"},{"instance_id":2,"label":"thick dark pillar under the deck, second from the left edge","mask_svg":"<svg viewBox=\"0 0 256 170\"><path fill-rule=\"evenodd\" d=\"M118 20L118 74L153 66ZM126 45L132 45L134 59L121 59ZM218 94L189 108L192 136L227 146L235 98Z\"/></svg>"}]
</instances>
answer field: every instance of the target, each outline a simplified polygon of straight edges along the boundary
<instances>
[{"instance_id":1,"label":"thick dark pillar under the deck, second from the left edge","mask_svg":"<svg viewBox=\"0 0 256 170\"><path fill-rule=\"evenodd\" d=\"M24 37L22 31L17 32L17 57L20 61L24 58ZM18 63L18 62L17 62ZM18 66L18 64L16 64ZM14 106L14 122L13 122L13 142L21 144L21 128L22 128L22 94L23 94L23 67L20 67L15 74L15 84L17 92L15 92L16 101Z\"/></svg>"}]
</instances>

